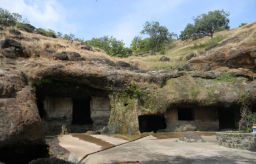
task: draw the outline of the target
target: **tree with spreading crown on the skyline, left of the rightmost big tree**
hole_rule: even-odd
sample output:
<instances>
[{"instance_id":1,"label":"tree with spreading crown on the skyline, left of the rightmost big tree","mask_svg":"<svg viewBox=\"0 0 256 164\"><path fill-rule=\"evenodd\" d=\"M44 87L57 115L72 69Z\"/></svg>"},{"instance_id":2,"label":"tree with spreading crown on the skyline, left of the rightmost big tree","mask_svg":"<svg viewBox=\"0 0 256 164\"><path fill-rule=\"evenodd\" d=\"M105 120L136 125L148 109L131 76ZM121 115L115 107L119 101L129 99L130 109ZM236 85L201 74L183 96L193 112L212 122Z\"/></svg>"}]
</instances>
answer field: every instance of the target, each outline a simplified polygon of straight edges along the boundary
<instances>
[{"instance_id":1,"label":"tree with spreading crown on the skyline, left of the rightmost big tree","mask_svg":"<svg viewBox=\"0 0 256 164\"><path fill-rule=\"evenodd\" d=\"M149 34L156 51L162 48L161 44L168 43L172 41L173 37L177 36L174 33L170 33L166 27L160 26L159 22L146 22L140 33Z\"/></svg>"}]
</instances>

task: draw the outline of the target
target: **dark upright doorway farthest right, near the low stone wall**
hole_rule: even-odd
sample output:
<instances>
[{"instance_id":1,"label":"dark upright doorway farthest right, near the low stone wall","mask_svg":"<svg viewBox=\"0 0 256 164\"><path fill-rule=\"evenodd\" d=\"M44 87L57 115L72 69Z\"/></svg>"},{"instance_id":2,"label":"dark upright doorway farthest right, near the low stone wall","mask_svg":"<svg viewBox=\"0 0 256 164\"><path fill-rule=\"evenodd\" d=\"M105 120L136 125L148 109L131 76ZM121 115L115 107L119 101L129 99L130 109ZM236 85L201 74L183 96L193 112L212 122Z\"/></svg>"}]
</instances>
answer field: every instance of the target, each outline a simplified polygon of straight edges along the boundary
<instances>
[{"instance_id":1,"label":"dark upright doorway farthest right, near the low stone wall","mask_svg":"<svg viewBox=\"0 0 256 164\"><path fill-rule=\"evenodd\" d=\"M220 130L224 128L235 128L234 112L232 108L218 108Z\"/></svg>"}]
</instances>

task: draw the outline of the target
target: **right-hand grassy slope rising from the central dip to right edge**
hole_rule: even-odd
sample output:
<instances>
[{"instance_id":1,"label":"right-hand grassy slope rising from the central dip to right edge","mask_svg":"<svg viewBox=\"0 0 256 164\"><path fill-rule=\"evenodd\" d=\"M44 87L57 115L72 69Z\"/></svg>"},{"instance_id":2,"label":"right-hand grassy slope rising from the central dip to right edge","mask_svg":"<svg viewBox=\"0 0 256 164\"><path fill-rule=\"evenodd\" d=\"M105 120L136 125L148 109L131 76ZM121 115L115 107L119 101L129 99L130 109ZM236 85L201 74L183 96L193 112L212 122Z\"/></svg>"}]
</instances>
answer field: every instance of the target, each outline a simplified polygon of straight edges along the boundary
<instances>
[{"instance_id":1,"label":"right-hand grassy slope rising from the central dip to right edge","mask_svg":"<svg viewBox=\"0 0 256 164\"><path fill-rule=\"evenodd\" d=\"M235 36L243 36L243 43L248 43L256 40L256 22L249 23L242 27L230 29L229 31L221 31L214 33L214 38L203 37L196 41L175 41L174 46L166 46L166 54L160 55L156 53L156 56L144 54L142 56L130 56L125 61L132 61L139 65L143 69L155 70L155 69L171 69L175 66L184 66L185 56L189 53L198 54L206 47L209 47L215 43L220 43L225 39L229 39ZM195 46L195 44L197 46ZM201 47L200 47L201 45ZM169 57L170 62L160 62L161 56Z\"/></svg>"}]
</instances>

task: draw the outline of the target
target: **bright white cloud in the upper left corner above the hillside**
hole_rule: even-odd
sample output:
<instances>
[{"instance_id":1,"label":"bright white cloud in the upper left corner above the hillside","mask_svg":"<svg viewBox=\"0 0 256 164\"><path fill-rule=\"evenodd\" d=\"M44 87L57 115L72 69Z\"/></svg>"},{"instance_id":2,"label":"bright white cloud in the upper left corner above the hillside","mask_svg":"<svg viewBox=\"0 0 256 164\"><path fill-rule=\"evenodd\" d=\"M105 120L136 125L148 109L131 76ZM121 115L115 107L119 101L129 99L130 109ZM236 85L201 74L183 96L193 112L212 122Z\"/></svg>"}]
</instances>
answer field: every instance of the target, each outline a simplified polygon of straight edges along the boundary
<instances>
[{"instance_id":1,"label":"bright white cloud in the upper left corner above the hillside","mask_svg":"<svg viewBox=\"0 0 256 164\"><path fill-rule=\"evenodd\" d=\"M75 32L75 26L66 21L66 12L56 0L1 0L1 7L27 18L37 28L51 28L56 32Z\"/></svg>"}]
</instances>

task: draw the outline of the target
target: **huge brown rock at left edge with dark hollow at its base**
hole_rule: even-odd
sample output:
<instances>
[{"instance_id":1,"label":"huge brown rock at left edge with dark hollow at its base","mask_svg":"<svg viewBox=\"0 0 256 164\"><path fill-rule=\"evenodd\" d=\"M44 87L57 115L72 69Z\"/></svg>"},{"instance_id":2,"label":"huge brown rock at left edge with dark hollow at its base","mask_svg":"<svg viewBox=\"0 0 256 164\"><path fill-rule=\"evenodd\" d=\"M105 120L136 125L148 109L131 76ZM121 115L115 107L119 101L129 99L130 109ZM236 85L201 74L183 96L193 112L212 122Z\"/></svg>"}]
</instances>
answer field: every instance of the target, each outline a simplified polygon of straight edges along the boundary
<instances>
[{"instance_id":1,"label":"huge brown rock at left edge with dark hollow at its base","mask_svg":"<svg viewBox=\"0 0 256 164\"><path fill-rule=\"evenodd\" d=\"M1 161L27 163L45 156L45 137L35 93L22 72L3 66L0 74Z\"/></svg>"}]
</instances>

